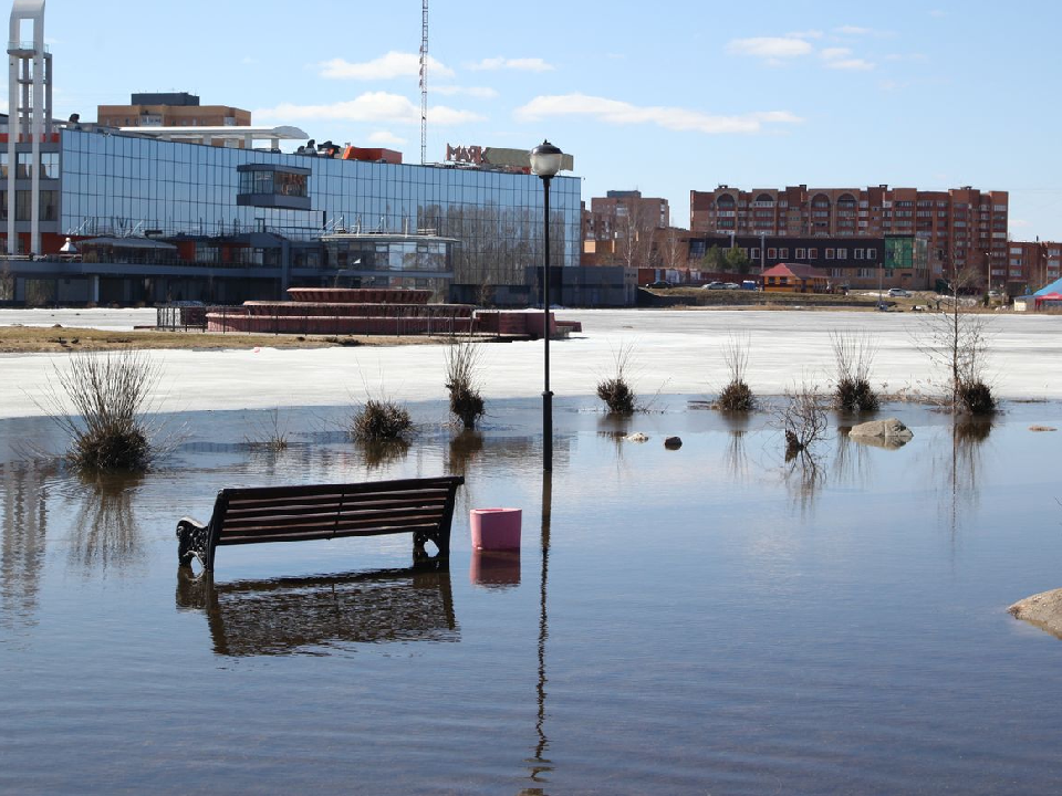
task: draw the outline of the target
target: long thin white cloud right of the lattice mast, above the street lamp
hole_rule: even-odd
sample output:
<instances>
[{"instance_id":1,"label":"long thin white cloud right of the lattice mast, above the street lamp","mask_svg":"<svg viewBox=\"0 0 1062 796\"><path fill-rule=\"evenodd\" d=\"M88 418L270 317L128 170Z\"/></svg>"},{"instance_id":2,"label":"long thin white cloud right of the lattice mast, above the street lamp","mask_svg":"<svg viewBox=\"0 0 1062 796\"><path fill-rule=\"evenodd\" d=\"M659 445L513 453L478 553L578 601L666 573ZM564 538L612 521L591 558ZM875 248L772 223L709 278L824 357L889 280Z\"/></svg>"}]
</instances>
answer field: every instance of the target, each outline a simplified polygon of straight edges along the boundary
<instances>
[{"instance_id":1,"label":"long thin white cloud right of the lattice mast, above the street lamp","mask_svg":"<svg viewBox=\"0 0 1062 796\"><path fill-rule=\"evenodd\" d=\"M620 100L564 94L538 96L517 108L516 117L533 122L549 116L592 116L613 125L653 124L671 130L699 133L759 133L767 124L796 124L802 119L788 111L767 111L740 116L716 116L679 107L632 105Z\"/></svg>"}]
</instances>

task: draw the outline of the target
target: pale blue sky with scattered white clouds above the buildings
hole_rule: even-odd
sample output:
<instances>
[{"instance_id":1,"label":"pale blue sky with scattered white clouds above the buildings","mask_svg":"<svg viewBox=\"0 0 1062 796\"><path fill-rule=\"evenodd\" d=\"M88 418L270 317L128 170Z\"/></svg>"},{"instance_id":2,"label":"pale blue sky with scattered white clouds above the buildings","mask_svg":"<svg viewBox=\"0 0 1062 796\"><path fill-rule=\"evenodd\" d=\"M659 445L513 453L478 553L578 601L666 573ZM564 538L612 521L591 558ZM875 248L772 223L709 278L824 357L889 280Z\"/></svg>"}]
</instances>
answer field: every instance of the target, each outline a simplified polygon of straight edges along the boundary
<instances>
[{"instance_id":1,"label":"pale blue sky with scattered white clouds above the buildings","mask_svg":"<svg viewBox=\"0 0 1062 796\"><path fill-rule=\"evenodd\" d=\"M9 0L10 2L10 0ZM582 197L974 186L1014 240L1062 240L1062 3L434 0L427 161L447 144L574 157ZM55 116L187 91L317 142L420 160L416 0L48 0Z\"/></svg>"}]
</instances>

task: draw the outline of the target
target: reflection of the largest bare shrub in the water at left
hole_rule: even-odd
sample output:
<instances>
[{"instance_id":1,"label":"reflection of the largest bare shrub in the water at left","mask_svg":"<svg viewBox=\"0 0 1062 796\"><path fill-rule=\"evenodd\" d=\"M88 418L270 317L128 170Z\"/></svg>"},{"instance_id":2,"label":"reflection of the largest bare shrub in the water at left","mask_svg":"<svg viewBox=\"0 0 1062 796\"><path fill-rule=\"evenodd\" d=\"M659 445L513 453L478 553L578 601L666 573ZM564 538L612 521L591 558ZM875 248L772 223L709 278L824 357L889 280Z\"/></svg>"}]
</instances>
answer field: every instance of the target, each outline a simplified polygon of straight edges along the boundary
<instances>
[{"instance_id":1,"label":"reflection of the largest bare shrub in the water at left","mask_svg":"<svg viewBox=\"0 0 1062 796\"><path fill-rule=\"evenodd\" d=\"M138 476L106 476L86 482L71 545L71 556L86 569L121 566L139 555L140 538L133 513L139 483Z\"/></svg>"}]
</instances>

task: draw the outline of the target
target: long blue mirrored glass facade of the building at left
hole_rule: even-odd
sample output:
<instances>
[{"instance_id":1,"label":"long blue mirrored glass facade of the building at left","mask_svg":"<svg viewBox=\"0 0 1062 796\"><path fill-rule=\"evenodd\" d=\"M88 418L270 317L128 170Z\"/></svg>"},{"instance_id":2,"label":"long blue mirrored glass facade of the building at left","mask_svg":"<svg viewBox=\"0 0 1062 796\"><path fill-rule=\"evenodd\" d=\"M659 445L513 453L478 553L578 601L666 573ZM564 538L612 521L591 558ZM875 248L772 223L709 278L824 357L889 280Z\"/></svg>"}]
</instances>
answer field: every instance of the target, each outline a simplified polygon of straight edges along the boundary
<instances>
[{"instance_id":1,"label":"long blue mirrored glass facade of the building at left","mask_svg":"<svg viewBox=\"0 0 1062 796\"><path fill-rule=\"evenodd\" d=\"M543 186L528 174L222 148L102 130L63 129L58 148L58 165L50 156L41 166L60 186L58 223L43 231L73 235L75 242L144 234L171 240L270 233L301 242L343 232L391 240L423 234L454 241L446 270L452 283L465 285L527 285L543 260ZM575 177L552 180L554 266L579 265L580 187ZM322 279L347 266L347 258L341 263L336 256L335 245L322 244L316 259ZM395 258L381 260L394 273Z\"/></svg>"}]
</instances>

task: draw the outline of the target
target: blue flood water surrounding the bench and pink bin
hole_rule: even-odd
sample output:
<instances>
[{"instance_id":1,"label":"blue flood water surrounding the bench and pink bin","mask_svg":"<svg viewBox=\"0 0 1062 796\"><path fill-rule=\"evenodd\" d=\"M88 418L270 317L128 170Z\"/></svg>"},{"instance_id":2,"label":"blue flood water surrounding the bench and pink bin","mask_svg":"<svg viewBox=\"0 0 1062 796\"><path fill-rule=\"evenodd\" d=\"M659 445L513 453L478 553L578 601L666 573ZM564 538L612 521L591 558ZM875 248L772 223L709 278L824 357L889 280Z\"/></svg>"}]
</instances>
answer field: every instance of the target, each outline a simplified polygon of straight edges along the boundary
<instances>
[{"instance_id":1,"label":"blue flood water surrounding the bench and pink bin","mask_svg":"<svg viewBox=\"0 0 1062 796\"><path fill-rule=\"evenodd\" d=\"M1062 586L1062 404L990 426L891 405L897 450L782 459L769 416L689 396L612 420L414 405L406 451L342 408L173 418L158 470L85 484L0 421L0 790L1056 793L1062 640L1006 608ZM271 429L289 447L248 444ZM632 442L623 434L649 437ZM663 446L681 437L678 450ZM174 527L218 489L464 474L448 572L405 536L222 547ZM519 555L468 512L523 510Z\"/></svg>"}]
</instances>

